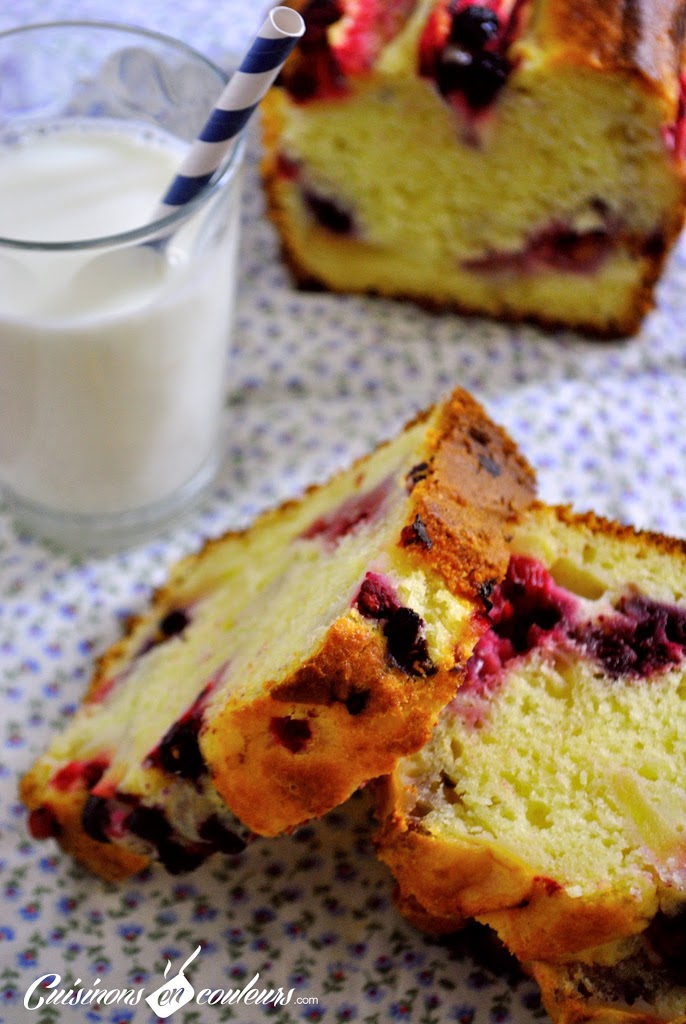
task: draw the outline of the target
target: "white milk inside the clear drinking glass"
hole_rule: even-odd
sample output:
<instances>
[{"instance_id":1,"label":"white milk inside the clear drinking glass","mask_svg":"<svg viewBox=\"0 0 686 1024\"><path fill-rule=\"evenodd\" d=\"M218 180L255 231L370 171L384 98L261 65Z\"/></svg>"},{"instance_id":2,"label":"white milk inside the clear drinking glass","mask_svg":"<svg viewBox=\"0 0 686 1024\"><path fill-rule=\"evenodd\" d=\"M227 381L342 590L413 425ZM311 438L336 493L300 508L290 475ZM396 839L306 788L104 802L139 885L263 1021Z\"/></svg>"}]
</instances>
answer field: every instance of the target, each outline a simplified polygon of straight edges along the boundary
<instances>
[{"instance_id":1,"label":"white milk inside the clear drinking glass","mask_svg":"<svg viewBox=\"0 0 686 1024\"><path fill-rule=\"evenodd\" d=\"M181 154L153 130L102 121L22 136L0 147L0 240L140 227ZM167 500L216 458L238 191L220 204L166 254L0 241L0 484L16 498L113 515ZM217 242L219 214L232 219Z\"/></svg>"}]
</instances>

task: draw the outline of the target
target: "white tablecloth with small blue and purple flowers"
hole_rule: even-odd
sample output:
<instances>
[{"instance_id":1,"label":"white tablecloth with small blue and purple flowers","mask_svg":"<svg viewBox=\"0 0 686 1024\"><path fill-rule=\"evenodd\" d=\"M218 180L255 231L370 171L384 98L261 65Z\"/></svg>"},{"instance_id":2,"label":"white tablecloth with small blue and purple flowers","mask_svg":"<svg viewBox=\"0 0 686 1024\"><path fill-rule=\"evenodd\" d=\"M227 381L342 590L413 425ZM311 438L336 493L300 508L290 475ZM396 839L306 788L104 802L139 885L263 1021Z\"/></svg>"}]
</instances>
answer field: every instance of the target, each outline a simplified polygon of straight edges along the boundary
<instances>
[{"instance_id":1,"label":"white tablecloth with small blue and purple flowers","mask_svg":"<svg viewBox=\"0 0 686 1024\"><path fill-rule=\"evenodd\" d=\"M241 0L5 0L0 29L128 19L228 62L260 9ZM640 336L620 343L298 293L264 219L256 159L253 138L226 463L211 497L156 543L86 561L17 536L0 506L0 1022L146 1024L158 1018L144 994L167 962L174 974L201 946L187 971L197 990L241 988L257 974L260 986L294 994L271 1010L191 1001L175 1024L528 1024L545 1018L529 982L399 918L371 849L365 797L182 880L156 869L120 887L26 829L18 776L171 561L324 478L457 384L520 442L546 500L686 537L686 246ZM50 973L65 988L99 984L143 998L27 1009L27 989Z\"/></svg>"}]
</instances>

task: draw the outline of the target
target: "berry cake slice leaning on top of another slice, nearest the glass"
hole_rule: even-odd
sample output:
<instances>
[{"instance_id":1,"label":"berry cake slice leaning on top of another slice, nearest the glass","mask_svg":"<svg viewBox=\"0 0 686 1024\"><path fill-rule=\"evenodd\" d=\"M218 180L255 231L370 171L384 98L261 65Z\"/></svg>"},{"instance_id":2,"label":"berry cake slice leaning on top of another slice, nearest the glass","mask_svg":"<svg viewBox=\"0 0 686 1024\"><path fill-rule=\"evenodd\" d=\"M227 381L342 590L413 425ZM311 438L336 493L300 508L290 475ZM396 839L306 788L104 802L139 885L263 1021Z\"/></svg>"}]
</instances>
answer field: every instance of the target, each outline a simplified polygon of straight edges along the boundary
<instances>
[{"instance_id":1,"label":"berry cake slice leaning on top of another slice, nearest the glass","mask_svg":"<svg viewBox=\"0 0 686 1024\"><path fill-rule=\"evenodd\" d=\"M22 783L37 838L171 871L324 814L428 738L532 473L465 392L181 561Z\"/></svg>"}]
</instances>

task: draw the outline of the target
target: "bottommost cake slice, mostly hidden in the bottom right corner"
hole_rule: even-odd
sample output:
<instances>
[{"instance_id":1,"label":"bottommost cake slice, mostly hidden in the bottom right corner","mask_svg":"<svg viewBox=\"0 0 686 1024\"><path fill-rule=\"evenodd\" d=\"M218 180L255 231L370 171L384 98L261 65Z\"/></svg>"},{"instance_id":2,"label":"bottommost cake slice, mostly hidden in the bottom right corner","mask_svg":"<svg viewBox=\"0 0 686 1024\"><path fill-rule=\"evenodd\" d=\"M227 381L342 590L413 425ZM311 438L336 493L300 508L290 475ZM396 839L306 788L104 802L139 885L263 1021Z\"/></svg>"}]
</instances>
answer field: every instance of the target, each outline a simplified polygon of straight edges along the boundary
<instances>
[{"instance_id":1,"label":"bottommost cake slice, mostly hidden in the bottom right corner","mask_svg":"<svg viewBox=\"0 0 686 1024\"><path fill-rule=\"evenodd\" d=\"M599 951L596 951L596 959ZM684 1024L686 927L658 913L616 962L532 964L553 1024Z\"/></svg>"}]
</instances>

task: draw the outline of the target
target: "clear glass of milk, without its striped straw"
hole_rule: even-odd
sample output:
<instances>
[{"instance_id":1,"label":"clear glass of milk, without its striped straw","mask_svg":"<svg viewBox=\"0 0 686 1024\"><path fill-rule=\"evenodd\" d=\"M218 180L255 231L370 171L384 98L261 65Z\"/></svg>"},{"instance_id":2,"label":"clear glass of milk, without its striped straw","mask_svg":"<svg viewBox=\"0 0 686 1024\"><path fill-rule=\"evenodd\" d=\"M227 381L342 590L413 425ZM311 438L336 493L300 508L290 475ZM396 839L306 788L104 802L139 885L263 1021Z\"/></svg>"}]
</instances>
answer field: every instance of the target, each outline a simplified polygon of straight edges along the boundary
<instances>
[{"instance_id":1,"label":"clear glass of milk, without its striped straw","mask_svg":"<svg viewBox=\"0 0 686 1024\"><path fill-rule=\"evenodd\" d=\"M30 531L113 549L220 461L244 145L151 221L223 72L65 22L0 34L0 493Z\"/></svg>"}]
</instances>

